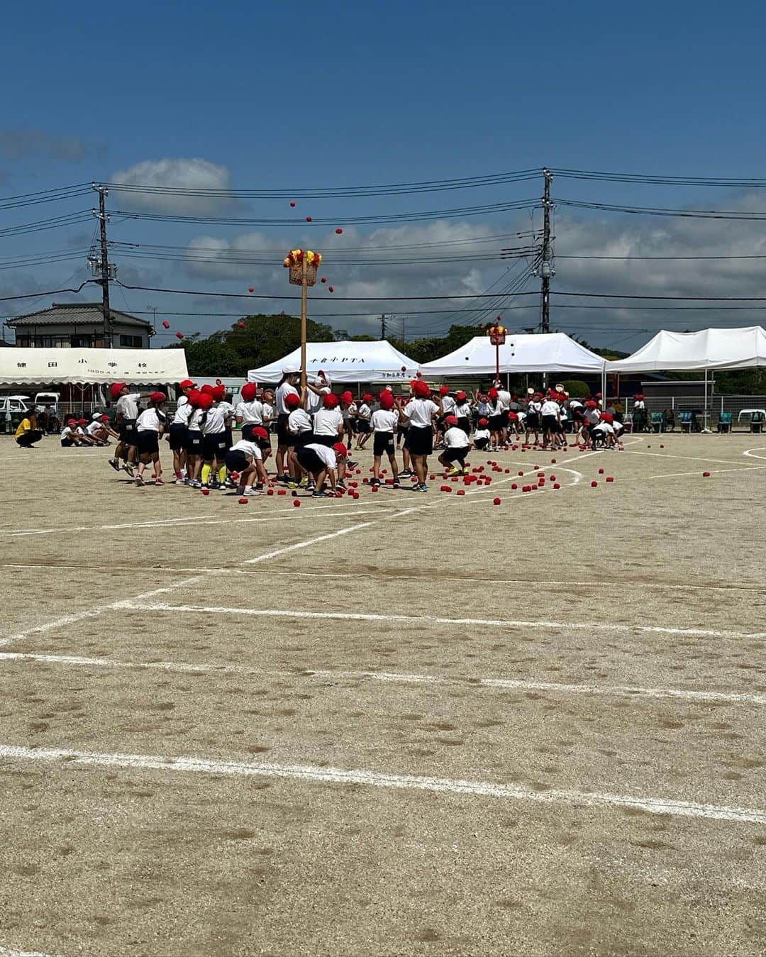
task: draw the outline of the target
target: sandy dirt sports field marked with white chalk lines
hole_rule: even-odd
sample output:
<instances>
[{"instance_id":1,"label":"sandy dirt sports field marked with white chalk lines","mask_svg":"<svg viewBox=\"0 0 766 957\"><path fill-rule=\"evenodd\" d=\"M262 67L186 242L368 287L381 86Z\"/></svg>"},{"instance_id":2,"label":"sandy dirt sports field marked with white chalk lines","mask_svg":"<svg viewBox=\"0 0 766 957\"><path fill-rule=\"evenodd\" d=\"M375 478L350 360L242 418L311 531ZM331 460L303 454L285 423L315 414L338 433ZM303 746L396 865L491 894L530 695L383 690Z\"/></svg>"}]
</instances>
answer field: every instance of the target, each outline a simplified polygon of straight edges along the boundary
<instances>
[{"instance_id":1,"label":"sandy dirt sports field marked with white chalk lines","mask_svg":"<svg viewBox=\"0 0 766 957\"><path fill-rule=\"evenodd\" d=\"M627 442L295 508L2 441L0 954L763 954L766 436Z\"/></svg>"}]
</instances>

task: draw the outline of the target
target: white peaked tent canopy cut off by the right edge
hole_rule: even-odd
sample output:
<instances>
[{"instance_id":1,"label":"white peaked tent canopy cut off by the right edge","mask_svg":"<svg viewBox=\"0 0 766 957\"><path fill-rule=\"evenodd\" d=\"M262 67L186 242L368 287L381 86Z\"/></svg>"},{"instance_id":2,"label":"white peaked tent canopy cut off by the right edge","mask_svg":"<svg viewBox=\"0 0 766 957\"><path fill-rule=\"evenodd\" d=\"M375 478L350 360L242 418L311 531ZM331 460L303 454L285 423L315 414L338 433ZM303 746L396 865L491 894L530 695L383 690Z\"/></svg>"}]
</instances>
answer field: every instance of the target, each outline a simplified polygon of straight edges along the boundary
<instances>
[{"instance_id":1,"label":"white peaked tent canopy cut off by the right edge","mask_svg":"<svg viewBox=\"0 0 766 957\"><path fill-rule=\"evenodd\" d=\"M766 329L702 329L668 332L663 329L627 359L606 364L607 372L752 368L766 366Z\"/></svg>"}]
</instances>

